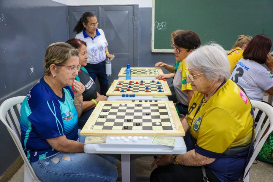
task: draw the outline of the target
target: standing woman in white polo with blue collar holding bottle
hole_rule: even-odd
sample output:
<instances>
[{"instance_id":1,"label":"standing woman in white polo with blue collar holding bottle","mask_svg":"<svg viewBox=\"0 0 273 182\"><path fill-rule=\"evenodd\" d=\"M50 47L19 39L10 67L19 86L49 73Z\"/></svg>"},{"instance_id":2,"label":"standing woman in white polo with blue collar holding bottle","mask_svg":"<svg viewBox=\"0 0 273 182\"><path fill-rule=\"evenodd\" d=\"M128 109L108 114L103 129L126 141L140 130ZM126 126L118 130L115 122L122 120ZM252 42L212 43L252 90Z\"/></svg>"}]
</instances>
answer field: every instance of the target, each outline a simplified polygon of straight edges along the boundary
<instances>
[{"instance_id":1,"label":"standing woman in white polo with blue collar holding bottle","mask_svg":"<svg viewBox=\"0 0 273 182\"><path fill-rule=\"evenodd\" d=\"M106 95L109 87L105 72L105 59L112 58L108 52L108 43L104 32L98 28L98 20L94 13L85 12L74 28L77 33L76 39L81 39L87 44L87 65L85 66L89 75L95 81L99 80L101 95Z\"/></svg>"}]
</instances>

